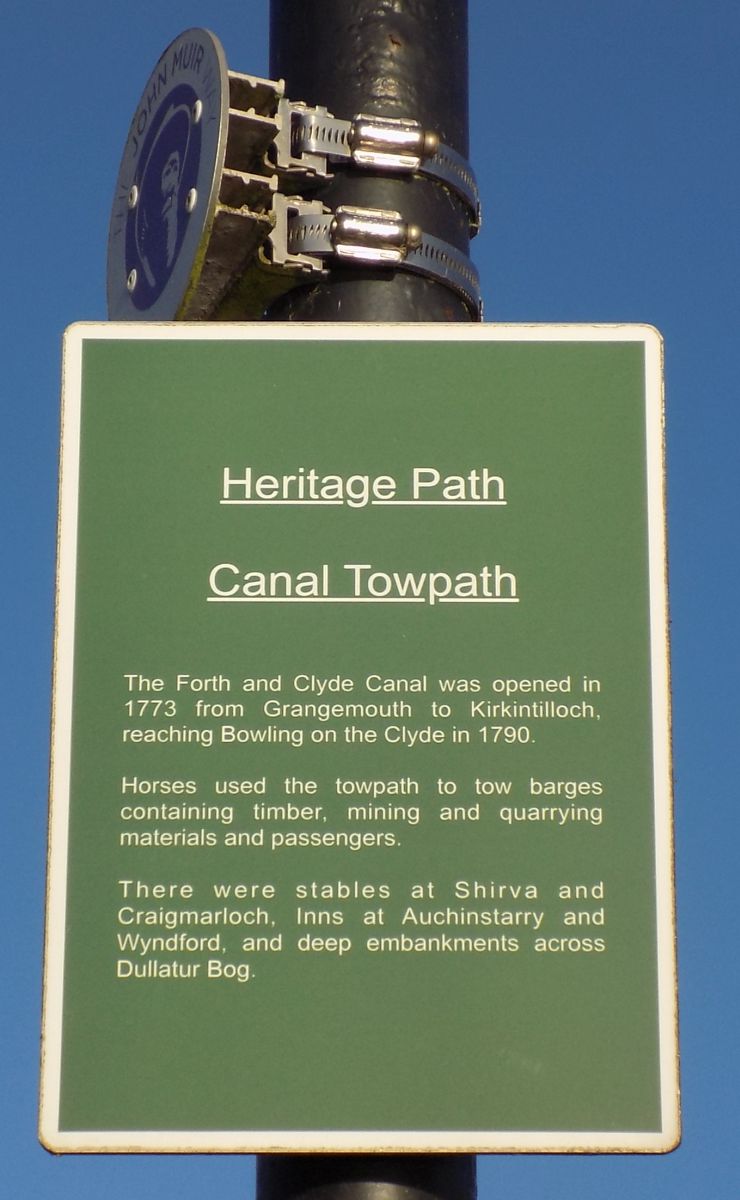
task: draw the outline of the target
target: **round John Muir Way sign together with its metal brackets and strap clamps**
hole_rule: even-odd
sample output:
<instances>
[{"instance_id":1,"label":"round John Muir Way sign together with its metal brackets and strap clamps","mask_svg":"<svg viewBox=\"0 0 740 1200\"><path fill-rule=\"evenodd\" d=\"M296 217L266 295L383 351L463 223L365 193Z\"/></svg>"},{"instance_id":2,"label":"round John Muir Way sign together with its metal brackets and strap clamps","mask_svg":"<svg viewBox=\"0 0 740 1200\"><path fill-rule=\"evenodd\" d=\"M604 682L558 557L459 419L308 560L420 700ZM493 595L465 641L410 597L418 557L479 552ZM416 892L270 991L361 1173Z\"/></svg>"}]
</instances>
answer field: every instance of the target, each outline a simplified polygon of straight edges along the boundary
<instances>
[{"instance_id":1,"label":"round John Muir Way sign together with its metal brackets and strap clamps","mask_svg":"<svg viewBox=\"0 0 740 1200\"><path fill-rule=\"evenodd\" d=\"M294 194L335 169L421 175L480 227L469 163L413 119L336 118L283 80L229 71L218 40L191 29L160 58L132 120L110 220L108 311L119 320L255 319L330 263L402 270L455 292L481 319L462 251L397 210Z\"/></svg>"}]
</instances>

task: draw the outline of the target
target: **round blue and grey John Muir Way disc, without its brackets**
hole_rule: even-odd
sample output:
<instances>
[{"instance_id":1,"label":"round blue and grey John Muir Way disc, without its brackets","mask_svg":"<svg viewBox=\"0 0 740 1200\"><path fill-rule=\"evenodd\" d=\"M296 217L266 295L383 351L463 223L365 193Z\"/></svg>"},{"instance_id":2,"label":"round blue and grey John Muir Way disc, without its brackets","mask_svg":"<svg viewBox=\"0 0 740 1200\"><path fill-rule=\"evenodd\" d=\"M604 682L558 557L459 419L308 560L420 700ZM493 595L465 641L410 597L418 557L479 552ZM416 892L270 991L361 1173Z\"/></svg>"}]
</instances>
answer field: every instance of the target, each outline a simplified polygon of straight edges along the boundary
<instances>
[{"instance_id":1,"label":"round blue and grey John Muir Way disc, without its brackets","mask_svg":"<svg viewBox=\"0 0 740 1200\"><path fill-rule=\"evenodd\" d=\"M174 320L198 282L229 112L221 42L188 29L167 47L131 122L108 234L112 320Z\"/></svg>"}]
</instances>

